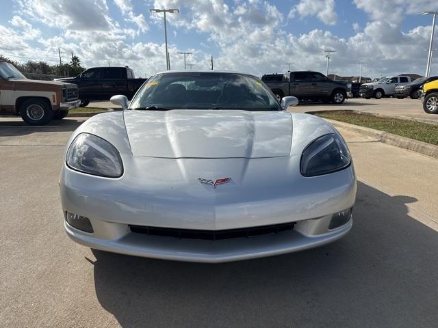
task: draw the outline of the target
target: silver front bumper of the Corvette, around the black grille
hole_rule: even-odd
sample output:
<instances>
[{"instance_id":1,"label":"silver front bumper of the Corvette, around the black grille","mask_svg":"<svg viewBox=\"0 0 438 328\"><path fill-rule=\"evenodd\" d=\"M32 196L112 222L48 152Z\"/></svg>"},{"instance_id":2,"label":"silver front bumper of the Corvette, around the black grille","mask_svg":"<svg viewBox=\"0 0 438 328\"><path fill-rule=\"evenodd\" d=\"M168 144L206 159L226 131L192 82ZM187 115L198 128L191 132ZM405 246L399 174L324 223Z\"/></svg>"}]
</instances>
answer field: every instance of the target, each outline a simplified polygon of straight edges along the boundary
<instances>
[{"instance_id":1,"label":"silver front bumper of the Corvette, around the black grille","mask_svg":"<svg viewBox=\"0 0 438 328\"><path fill-rule=\"evenodd\" d=\"M295 160L296 165L284 158L211 161L136 157L133 163L126 159L130 168L118 179L81 174L64 165L60 179L64 213L88 217L94 230L90 234L64 223L66 232L77 243L94 249L192 262L278 255L341 238L352 221L333 230L329 224L334 213L355 204L352 165L333 174L305 178L296 172L300 156L291 158ZM231 181L216 189L200 184L197 177L206 174L200 167L231 176ZM266 167L270 167L269 174ZM168 172L165 178L163 172ZM130 229L150 226L218 231L292 222L296 224L290 231L216 241L149 236Z\"/></svg>"}]
</instances>

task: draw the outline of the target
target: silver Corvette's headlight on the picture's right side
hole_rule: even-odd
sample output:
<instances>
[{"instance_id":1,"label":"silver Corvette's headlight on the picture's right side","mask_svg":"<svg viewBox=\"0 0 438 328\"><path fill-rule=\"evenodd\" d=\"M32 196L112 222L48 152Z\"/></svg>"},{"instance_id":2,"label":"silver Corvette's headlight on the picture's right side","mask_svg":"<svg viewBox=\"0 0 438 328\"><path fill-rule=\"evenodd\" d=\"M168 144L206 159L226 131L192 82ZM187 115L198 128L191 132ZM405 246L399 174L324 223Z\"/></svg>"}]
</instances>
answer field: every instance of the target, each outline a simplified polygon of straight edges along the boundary
<instances>
[{"instance_id":1,"label":"silver Corvette's headlight on the picture's right side","mask_svg":"<svg viewBox=\"0 0 438 328\"><path fill-rule=\"evenodd\" d=\"M341 137L331 133L323 135L302 152L301 174L303 176L320 176L350 165L351 156Z\"/></svg>"}]
</instances>

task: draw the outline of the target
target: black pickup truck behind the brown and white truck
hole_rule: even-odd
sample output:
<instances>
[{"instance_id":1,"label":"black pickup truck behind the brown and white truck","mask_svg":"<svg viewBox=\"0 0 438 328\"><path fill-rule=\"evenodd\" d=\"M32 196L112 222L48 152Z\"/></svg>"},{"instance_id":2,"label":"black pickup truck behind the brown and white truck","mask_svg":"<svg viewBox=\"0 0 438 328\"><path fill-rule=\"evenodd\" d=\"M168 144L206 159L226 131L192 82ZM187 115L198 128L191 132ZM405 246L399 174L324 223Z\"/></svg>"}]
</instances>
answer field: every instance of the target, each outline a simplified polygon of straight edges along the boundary
<instances>
[{"instance_id":1,"label":"black pickup truck behind the brown and white truck","mask_svg":"<svg viewBox=\"0 0 438 328\"><path fill-rule=\"evenodd\" d=\"M81 107L85 107L91 100L110 100L116 94L131 99L146 79L136 79L129 67L93 67L77 77L55 81L75 83L79 87Z\"/></svg>"}]
</instances>

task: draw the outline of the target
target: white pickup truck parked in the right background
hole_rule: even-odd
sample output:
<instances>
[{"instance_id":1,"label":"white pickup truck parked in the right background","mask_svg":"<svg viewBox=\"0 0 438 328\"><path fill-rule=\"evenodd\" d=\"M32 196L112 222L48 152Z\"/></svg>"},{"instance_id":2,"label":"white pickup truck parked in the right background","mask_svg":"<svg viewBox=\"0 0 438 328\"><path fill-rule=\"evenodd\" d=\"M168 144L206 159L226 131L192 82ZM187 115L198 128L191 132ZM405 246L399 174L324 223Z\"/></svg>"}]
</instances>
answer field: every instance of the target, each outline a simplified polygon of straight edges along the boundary
<instances>
[{"instance_id":1,"label":"white pickup truck parked in the right background","mask_svg":"<svg viewBox=\"0 0 438 328\"><path fill-rule=\"evenodd\" d=\"M384 96L394 96L396 86L408 85L412 81L411 77L403 75L398 77L384 77L377 82L363 83L359 88L359 96L366 99L372 97L380 99Z\"/></svg>"}]
</instances>

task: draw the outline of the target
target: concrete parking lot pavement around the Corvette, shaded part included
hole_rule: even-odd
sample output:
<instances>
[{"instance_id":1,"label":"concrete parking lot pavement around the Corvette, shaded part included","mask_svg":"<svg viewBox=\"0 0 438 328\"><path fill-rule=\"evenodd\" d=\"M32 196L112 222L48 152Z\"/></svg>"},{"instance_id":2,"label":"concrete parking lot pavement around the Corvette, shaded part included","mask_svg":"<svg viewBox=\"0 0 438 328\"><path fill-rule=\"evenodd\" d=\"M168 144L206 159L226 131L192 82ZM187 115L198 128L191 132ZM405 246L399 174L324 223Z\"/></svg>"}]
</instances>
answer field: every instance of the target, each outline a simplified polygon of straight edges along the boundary
<instances>
[{"instance_id":1,"label":"concrete parking lot pavement around the Corvette, shaded part included","mask_svg":"<svg viewBox=\"0 0 438 328\"><path fill-rule=\"evenodd\" d=\"M422 115L418 100L346 106L386 101ZM438 160L340 131L359 180L345 238L243 262L151 260L91 251L64 232L57 181L83 120L0 118L3 327L436 326Z\"/></svg>"}]
</instances>

